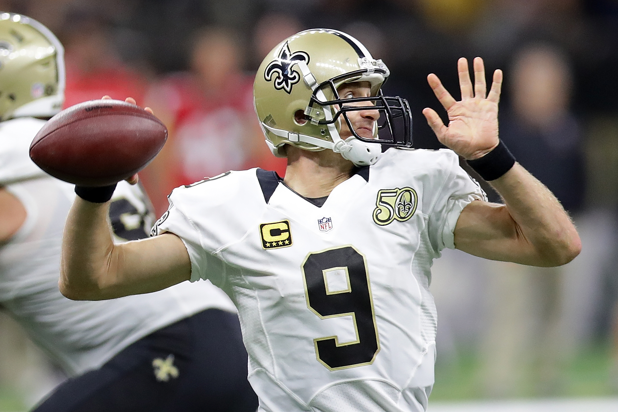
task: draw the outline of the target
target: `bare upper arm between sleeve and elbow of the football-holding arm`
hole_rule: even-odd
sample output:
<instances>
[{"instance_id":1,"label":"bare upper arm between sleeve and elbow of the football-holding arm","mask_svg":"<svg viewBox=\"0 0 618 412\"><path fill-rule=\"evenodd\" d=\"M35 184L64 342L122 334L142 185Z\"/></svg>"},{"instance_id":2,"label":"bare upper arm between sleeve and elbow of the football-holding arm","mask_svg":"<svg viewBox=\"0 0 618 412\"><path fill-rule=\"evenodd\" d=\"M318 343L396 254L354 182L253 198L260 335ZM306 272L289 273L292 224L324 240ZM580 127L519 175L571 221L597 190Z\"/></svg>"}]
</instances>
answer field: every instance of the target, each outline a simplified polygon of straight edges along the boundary
<instances>
[{"instance_id":1,"label":"bare upper arm between sleeve and elbow of the football-holding arm","mask_svg":"<svg viewBox=\"0 0 618 412\"><path fill-rule=\"evenodd\" d=\"M114 246L116 279L104 298L156 292L191 277L191 261L182 240L172 233Z\"/></svg>"}]
</instances>

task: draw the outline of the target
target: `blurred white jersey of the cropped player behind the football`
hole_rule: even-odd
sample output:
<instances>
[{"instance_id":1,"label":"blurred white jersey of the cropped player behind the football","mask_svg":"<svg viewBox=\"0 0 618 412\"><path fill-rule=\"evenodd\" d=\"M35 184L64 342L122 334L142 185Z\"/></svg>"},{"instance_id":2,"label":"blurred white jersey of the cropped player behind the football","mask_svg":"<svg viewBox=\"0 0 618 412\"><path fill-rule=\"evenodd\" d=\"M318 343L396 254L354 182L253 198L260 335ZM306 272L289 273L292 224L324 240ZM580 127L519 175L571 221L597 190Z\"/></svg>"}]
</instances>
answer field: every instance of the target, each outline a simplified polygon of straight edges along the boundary
<instances>
[{"instance_id":1,"label":"blurred white jersey of the cropped player behind the football","mask_svg":"<svg viewBox=\"0 0 618 412\"><path fill-rule=\"evenodd\" d=\"M0 185L21 201L27 219L0 246L0 306L69 374L98 368L138 339L203 309L235 311L210 282L108 301L72 301L58 290L62 230L73 185L43 174L28 148L44 121L0 123ZM118 242L146 237L151 214L138 186L118 184L110 219Z\"/></svg>"}]
</instances>

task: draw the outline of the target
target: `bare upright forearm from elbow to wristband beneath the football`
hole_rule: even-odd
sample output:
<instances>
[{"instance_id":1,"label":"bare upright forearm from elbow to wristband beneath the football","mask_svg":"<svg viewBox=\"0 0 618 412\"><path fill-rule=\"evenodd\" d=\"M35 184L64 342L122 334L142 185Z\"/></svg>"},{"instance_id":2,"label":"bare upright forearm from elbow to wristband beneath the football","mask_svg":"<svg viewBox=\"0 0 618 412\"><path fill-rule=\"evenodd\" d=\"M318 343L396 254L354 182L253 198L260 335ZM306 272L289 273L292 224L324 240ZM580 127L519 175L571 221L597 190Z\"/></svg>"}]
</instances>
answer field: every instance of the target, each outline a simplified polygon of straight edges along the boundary
<instances>
[{"instance_id":1,"label":"bare upright forearm from elbow to wristband beneath the football","mask_svg":"<svg viewBox=\"0 0 618 412\"><path fill-rule=\"evenodd\" d=\"M114 277L108 212L109 203L75 198L62 237L59 288L67 298L101 299L104 285Z\"/></svg>"}]
</instances>

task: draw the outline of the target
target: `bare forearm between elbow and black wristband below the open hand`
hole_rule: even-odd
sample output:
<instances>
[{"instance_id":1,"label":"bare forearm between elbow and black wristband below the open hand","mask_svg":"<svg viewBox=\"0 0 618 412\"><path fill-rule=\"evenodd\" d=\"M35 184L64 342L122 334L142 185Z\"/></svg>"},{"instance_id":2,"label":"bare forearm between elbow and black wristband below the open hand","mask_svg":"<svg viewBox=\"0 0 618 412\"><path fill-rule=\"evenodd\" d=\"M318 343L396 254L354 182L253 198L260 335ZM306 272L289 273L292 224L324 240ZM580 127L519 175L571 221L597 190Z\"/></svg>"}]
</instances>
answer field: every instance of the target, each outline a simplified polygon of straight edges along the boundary
<instances>
[{"instance_id":1,"label":"bare forearm between elbow and black wristband below the open hand","mask_svg":"<svg viewBox=\"0 0 618 412\"><path fill-rule=\"evenodd\" d=\"M513 241L530 251L527 264L559 266L580 253L577 230L556 196L519 163L490 183L514 221Z\"/></svg>"}]
</instances>

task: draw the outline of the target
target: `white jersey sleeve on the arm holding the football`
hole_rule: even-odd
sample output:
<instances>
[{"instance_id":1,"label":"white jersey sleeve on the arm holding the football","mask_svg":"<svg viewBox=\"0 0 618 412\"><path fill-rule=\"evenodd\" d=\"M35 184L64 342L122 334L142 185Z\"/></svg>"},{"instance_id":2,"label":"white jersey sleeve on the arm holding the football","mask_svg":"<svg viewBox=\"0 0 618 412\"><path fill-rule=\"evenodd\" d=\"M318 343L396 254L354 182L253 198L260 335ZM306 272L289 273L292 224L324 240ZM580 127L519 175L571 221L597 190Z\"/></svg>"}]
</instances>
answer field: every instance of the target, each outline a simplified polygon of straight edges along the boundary
<instances>
[{"instance_id":1,"label":"white jersey sleeve on the arm holding the football","mask_svg":"<svg viewBox=\"0 0 618 412\"><path fill-rule=\"evenodd\" d=\"M156 221L151 235L170 232L184 243L191 260L191 282L208 279L221 287L224 264L213 254L206 252L201 242L201 234L193 222L170 200L169 209Z\"/></svg>"}]
</instances>

